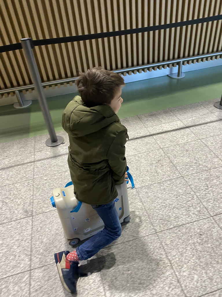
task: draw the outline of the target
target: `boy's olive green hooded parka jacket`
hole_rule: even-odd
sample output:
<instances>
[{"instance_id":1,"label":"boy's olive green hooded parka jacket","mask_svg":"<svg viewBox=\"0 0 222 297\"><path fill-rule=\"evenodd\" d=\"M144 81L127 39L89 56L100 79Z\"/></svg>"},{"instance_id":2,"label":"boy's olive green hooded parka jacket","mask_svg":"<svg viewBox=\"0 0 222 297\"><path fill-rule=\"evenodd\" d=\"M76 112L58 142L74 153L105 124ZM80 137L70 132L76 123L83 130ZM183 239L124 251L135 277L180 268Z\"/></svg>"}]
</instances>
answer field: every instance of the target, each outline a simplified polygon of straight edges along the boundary
<instances>
[{"instance_id":1,"label":"boy's olive green hooded parka jacket","mask_svg":"<svg viewBox=\"0 0 222 297\"><path fill-rule=\"evenodd\" d=\"M125 179L127 129L109 105L92 108L76 96L65 108L62 127L69 135L68 165L79 201L101 205L117 196Z\"/></svg>"}]
</instances>

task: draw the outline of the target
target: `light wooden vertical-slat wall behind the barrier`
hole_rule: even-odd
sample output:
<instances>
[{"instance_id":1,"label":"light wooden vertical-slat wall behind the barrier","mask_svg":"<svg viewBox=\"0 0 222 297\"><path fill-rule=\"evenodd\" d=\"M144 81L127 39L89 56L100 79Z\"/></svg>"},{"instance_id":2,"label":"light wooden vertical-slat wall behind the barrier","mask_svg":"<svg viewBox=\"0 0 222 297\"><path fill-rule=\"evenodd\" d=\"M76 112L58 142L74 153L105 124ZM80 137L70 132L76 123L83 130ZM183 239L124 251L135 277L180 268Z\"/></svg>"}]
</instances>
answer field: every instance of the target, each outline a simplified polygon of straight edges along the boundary
<instances>
[{"instance_id":1,"label":"light wooden vertical-slat wall behind the barrier","mask_svg":"<svg viewBox=\"0 0 222 297\"><path fill-rule=\"evenodd\" d=\"M4 0L0 1L0 45L17 43L24 37L36 40L116 31L218 14L222 14L221 0ZM219 20L35 47L34 54L41 79L47 82L78 76L94 66L114 70L216 52L222 48L221 34ZM220 57L211 59L215 58ZM22 50L2 53L0 63L1 89L32 84Z\"/></svg>"}]
</instances>

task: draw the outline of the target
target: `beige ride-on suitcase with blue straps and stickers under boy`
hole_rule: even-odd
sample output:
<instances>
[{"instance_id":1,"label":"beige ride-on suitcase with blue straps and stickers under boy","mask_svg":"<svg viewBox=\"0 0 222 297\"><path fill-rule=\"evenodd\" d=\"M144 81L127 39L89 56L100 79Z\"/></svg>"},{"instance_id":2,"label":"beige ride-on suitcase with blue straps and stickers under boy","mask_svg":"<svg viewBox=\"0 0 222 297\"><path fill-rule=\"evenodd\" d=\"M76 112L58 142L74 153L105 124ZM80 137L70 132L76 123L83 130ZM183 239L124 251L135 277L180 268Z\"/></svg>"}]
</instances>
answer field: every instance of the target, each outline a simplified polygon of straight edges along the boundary
<instances>
[{"instance_id":1,"label":"beige ride-on suitcase with blue straps and stickers under boy","mask_svg":"<svg viewBox=\"0 0 222 297\"><path fill-rule=\"evenodd\" d=\"M128 179L133 189L134 183L130 173L128 173ZM120 223L130 221L127 183L116 186L118 197L114 201ZM54 189L50 199L52 206L57 208L65 237L71 246L75 246L79 241L95 235L104 228L102 219L91 205L75 198L72 182L66 184L64 188Z\"/></svg>"}]
</instances>

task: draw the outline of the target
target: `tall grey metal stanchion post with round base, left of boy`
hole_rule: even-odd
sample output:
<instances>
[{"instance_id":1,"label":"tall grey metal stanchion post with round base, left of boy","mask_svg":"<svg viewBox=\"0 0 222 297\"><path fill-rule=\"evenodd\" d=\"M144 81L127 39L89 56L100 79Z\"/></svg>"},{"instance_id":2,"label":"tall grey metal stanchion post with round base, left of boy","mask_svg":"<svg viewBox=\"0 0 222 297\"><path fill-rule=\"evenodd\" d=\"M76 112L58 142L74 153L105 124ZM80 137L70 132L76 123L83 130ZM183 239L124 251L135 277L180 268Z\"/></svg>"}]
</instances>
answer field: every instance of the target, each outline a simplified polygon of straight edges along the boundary
<instances>
[{"instance_id":1,"label":"tall grey metal stanchion post with round base, left of boy","mask_svg":"<svg viewBox=\"0 0 222 297\"><path fill-rule=\"evenodd\" d=\"M29 71L33 79L33 84L38 94L38 101L46 122L47 129L49 131L50 138L46 140L46 145L59 146L59 144L63 143L63 138L61 136L56 136L56 133L55 133L55 129L52 123L52 118L49 113L49 107L46 102L46 97L44 94L41 78L38 72L38 67L32 51L31 40L32 40L31 38L22 38L21 43L25 53L25 58L29 67Z\"/></svg>"}]
</instances>

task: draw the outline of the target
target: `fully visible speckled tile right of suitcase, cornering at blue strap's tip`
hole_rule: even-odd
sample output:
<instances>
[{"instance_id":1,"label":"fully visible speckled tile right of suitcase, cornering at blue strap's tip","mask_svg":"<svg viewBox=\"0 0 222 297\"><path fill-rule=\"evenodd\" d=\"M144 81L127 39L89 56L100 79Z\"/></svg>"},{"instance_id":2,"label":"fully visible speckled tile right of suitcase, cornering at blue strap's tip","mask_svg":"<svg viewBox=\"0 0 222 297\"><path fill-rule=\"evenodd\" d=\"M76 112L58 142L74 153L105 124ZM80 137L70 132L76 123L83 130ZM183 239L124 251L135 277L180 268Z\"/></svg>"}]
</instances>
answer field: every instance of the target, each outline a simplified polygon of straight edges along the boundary
<instances>
[{"instance_id":1,"label":"fully visible speckled tile right of suitcase, cornering at blue strap's tip","mask_svg":"<svg viewBox=\"0 0 222 297\"><path fill-rule=\"evenodd\" d=\"M156 231L209 217L184 178L137 189Z\"/></svg>"}]
</instances>

